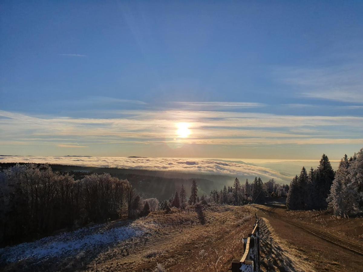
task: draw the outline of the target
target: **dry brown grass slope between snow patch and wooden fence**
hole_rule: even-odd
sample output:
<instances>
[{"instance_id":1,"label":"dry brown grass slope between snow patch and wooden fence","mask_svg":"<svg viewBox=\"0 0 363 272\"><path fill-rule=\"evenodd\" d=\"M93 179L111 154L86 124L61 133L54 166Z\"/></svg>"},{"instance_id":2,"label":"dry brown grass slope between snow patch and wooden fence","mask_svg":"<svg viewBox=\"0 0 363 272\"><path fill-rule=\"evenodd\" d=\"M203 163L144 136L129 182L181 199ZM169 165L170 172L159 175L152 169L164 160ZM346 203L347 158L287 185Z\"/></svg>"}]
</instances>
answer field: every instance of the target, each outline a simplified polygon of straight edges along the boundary
<instances>
[{"instance_id":1,"label":"dry brown grass slope between snow patch and wooden fence","mask_svg":"<svg viewBox=\"0 0 363 272\"><path fill-rule=\"evenodd\" d=\"M154 226L147 239L120 244L95 260L97 269L90 264L88 270L166 271L154 270L156 261L167 271L227 271L233 257L242 256L242 238L252 230L254 217L241 207L211 205L154 212L135 222Z\"/></svg>"}]
</instances>

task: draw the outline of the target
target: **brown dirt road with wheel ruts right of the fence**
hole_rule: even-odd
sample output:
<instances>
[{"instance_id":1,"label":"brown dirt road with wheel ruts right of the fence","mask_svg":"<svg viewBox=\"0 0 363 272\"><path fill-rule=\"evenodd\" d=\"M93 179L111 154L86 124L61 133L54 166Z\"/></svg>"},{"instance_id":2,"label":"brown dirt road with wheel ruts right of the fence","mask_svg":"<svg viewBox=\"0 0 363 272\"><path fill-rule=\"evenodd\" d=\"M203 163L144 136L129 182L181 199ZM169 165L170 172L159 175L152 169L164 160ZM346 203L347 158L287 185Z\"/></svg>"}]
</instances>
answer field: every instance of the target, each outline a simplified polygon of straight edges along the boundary
<instances>
[{"instance_id":1,"label":"brown dirt road with wheel ruts right of the fence","mask_svg":"<svg viewBox=\"0 0 363 272\"><path fill-rule=\"evenodd\" d=\"M289 261L297 271L362 271L361 241L344 235L343 231L338 233L314 223L327 220L309 218L319 216L318 212L288 213L284 205L256 205L253 210L262 218L265 233L269 235L266 239L272 239L269 243L265 239L265 250L261 250L262 271L287 271L284 262ZM357 222L361 226L363 221L358 219ZM341 223L348 222L337 224ZM277 244L277 250L271 248L273 243ZM285 260L280 258L279 261L274 255L279 250Z\"/></svg>"}]
</instances>

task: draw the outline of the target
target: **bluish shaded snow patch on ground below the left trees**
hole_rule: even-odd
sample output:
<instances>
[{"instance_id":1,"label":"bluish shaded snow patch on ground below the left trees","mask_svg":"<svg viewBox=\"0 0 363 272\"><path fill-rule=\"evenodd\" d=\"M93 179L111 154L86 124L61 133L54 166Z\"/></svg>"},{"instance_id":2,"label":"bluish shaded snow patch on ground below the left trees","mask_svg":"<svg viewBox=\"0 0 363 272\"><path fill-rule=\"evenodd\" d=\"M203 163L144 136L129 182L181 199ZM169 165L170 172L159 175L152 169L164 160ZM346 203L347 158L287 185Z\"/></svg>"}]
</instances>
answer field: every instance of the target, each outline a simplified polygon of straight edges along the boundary
<instances>
[{"instance_id":1,"label":"bluish shaded snow patch on ground below the left trees","mask_svg":"<svg viewBox=\"0 0 363 272\"><path fill-rule=\"evenodd\" d=\"M150 226L152 228L152 226ZM0 249L0 263L13 263L20 260L48 259L76 255L80 251L111 246L124 240L140 236L150 230L145 224L137 222L126 226L99 224L72 232L49 236L40 240Z\"/></svg>"}]
</instances>

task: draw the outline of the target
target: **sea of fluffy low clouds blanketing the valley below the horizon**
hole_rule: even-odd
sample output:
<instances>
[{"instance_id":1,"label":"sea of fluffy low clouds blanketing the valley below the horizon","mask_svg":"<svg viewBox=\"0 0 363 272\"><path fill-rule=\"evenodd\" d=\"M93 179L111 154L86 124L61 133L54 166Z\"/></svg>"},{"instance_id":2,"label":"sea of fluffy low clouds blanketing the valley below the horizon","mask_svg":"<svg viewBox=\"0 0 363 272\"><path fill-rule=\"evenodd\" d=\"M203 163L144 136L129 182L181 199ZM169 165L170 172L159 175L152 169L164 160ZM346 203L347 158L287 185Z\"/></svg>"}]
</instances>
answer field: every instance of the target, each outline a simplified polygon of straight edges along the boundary
<instances>
[{"instance_id":1,"label":"sea of fluffy low clouds blanketing the valley below the horizon","mask_svg":"<svg viewBox=\"0 0 363 272\"><path fill-rule=\"evenodd\" d=\"M284 173L245 164L241 161L221 161L197 158L142 158L142 157L71 157L71 156L0 156L0 162L34 162L124 169L174 171L199 174L221 174L228 176L274 178L277 181L290 177Z\"/></svg>"}]
</instances>

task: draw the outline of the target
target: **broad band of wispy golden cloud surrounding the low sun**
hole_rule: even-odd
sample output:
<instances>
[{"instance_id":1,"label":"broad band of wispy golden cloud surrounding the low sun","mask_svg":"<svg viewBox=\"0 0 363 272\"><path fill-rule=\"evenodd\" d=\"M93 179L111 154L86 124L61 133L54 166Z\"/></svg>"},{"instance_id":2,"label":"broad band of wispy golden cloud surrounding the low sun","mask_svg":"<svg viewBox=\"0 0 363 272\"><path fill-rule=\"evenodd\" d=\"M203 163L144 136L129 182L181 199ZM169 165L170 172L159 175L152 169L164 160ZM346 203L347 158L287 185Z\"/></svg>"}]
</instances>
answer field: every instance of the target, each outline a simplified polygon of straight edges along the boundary
<instances>
[{"instance_id":1,"label":"broad band of wispy golden cloud surrounding the low sun","mask_svg":"<svg viewBox=\"0 0 363 272\"><path fill-rule=\"evenodd\" d=\"M123 110L114 118L34 117L0 111L0 140L58 145L113 144L360 144L363 117L294 116L228 111ZM191 135L178 138L178 122ZM26 140L28 139L28 140ZM32 140L29 140L32 139ZM68 139L68 140L67 140ZM74 146L73 146L74 145Z\"/></svg>"}]
</instances>

